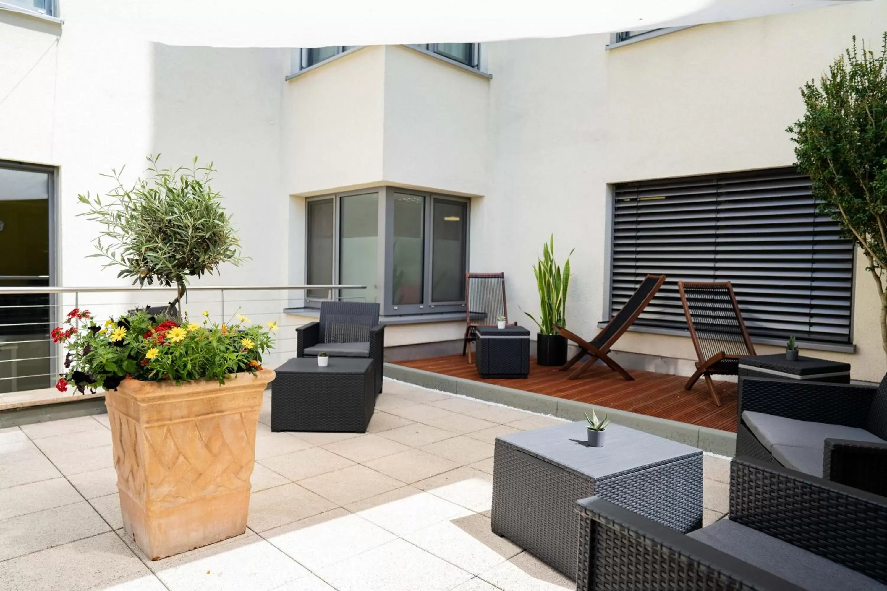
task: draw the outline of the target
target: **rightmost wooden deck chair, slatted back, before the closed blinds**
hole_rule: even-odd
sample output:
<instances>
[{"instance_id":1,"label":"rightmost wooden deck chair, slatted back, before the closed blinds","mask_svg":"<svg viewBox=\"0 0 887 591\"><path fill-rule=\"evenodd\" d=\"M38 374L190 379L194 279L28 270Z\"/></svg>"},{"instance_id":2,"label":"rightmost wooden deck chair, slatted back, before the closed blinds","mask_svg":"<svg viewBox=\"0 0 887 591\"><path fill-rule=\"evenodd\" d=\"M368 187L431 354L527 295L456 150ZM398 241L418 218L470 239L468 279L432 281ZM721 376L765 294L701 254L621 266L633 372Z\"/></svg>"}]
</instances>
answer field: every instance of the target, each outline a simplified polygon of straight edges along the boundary
<instances>
[{"instance_id":1,"label":"rightmost wooden deck chair, slatted back, before the closed blinds","mask_svg":"<svg viewBox=\"0 0 887 591\"><path fill-rule=\"evenodd\" d=\"M711 374L735 376L739 359L755 355L749 331L736 303L733 285L726 283L678 282L680 301L687 315L687 328L696 349L696 370L684 389L690 390L699 377L705 377L711 400L720 406Z\"/></svg>"}]
</instances>

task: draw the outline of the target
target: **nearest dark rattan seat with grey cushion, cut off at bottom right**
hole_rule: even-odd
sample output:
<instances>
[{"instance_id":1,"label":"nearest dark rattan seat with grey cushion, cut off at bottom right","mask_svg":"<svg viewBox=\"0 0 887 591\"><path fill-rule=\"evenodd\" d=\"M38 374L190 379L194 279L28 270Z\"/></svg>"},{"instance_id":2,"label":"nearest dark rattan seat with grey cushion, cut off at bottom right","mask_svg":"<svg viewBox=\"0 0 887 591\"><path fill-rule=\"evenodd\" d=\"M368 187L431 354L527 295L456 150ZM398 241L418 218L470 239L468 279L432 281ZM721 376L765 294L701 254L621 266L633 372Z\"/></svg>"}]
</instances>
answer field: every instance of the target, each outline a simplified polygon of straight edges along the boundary
<instances>
[{"instance_id":1,"label":"nearest dark rattan seat with grey cushion, cut off at bottom right","mask_svg":"<svg viewBox=\"0 0 887 591\"><path fill-rule=\"evenodd\" d=\"M730 472L728 518L687 535L579 501L577 589L887 589L887 497L751 458Z\"/></svg>"}]
</instances>

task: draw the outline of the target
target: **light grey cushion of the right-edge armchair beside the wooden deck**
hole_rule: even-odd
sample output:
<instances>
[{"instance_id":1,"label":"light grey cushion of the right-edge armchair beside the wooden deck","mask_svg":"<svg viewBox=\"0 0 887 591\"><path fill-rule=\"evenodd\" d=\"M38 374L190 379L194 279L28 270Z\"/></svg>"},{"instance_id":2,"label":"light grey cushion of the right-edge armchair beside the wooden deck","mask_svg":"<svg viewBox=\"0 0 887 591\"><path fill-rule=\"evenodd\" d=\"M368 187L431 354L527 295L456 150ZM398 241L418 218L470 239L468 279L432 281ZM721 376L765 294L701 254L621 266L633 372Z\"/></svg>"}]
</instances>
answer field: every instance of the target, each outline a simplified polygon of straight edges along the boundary
<instances>
[{"instance_id":1,"label":"light grey cushion of the right-edge armchair beside the wooden deck","mask_svg":"<svg viewBox=\"0 0 887 591\"><path fill-rule=\"evenodd\" d=\"M859 427L797 421L785 416L765 415L750 410L742 412L742 422L771 453L773 446L813 447L821 451L825 447L826 439L885 443L880 437Z\"/></svg>"}]
</instances>

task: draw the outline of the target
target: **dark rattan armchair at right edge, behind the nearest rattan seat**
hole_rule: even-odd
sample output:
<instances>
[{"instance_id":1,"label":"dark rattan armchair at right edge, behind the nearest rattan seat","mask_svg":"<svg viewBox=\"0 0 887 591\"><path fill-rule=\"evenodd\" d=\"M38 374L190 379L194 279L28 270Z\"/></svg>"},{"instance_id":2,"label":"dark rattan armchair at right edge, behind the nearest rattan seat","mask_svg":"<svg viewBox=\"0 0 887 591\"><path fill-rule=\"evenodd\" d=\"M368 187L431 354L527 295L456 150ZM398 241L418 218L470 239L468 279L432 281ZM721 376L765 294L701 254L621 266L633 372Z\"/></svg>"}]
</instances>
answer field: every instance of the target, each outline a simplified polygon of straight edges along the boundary
<instances>
[{"instance_id":1,"label":"dark rattan armchair at right edge, behind the nearest rattan seat","mask_svg":"<svg viewBox=\"0 0 887 591\"><path fill-rule=\"evenodd\" d=\"M887 495L881 385L740 377L736 454Z\"/></svg>"}]
</instances>

